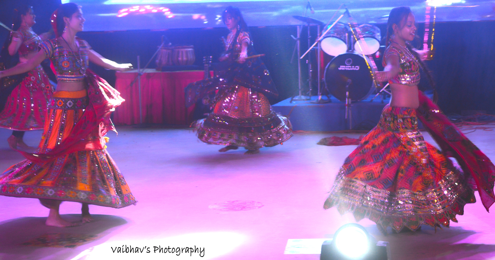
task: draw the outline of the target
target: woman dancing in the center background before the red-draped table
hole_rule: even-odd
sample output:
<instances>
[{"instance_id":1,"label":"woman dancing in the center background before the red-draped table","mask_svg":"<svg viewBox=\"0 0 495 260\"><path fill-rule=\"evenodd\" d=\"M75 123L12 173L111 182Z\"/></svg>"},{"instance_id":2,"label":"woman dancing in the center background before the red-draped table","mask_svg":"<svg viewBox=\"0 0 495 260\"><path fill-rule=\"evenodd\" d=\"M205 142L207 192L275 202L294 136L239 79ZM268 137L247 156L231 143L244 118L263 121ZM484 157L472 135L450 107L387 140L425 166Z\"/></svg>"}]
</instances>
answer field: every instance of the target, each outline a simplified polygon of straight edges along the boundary
<instances>
[{"instance_id":1,"label":"woman dancing in the center background before the red-draped table","mask_svg":"<svg viewBox=\"0 0 495 260\"><path fill-rule=\"evenodd\" d=\"M227 7L222 20L230 30L225 41L226 54L220 60L226 69L215 78L218 92L213 112L193 124L198 138L211 144L222 144L225 152L243 146L245 154L259 152L261 147L282 144L292 136L286 117L277 115L268 97L276 98L277 89L261 59L253 55L246 22L239 8Z\"/></svg>"}]
</instances>

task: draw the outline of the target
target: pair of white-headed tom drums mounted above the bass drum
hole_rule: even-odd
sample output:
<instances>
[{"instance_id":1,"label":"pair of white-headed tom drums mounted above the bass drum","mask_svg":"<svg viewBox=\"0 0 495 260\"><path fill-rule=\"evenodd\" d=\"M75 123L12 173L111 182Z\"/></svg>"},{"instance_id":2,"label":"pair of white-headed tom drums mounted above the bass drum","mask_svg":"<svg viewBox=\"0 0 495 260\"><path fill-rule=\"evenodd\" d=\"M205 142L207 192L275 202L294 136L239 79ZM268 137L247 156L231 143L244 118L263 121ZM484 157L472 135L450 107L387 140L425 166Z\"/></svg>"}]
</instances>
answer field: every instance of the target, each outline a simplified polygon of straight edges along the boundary
<instances>
[{"instance_id":1,"label":"pair of white-headed tom drums mounted above the bass drum","mask_svg":"<svg viewBox=\"0 0 495 260\"><path fill-rule=\"evenodd\" d=\"M348 43L352 43L351 50L359 54L370 55L377 52L382 39L380 28L370 24L361 24L357 28L361 31L363 40L356 42L347 24L336 23L321 41L321 49L328 55L338 56L346 53L349 50Z\"/></svg>"}]
</instances>

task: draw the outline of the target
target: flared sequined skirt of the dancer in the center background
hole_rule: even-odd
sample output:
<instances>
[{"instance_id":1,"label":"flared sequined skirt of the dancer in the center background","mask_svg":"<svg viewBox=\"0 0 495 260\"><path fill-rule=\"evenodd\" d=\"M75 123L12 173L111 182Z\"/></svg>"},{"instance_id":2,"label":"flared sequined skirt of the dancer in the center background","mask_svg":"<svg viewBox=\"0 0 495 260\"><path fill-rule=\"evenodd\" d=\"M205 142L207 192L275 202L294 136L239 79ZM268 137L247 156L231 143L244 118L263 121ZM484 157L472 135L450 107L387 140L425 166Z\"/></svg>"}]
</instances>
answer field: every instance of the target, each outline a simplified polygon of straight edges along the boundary
<instances>
[{"instance_id":1,"label":"flared sequined skirt of the dancer in the center background","mask_svg":"<svg viewBox=\"0 0 495 260\"><path fill-rule=\"evenodd\" d=\"M226 92L213 112L193 126L205 143L249 150L275 146L292 137L289 119L277 115L263 94L242 86Z\"/></svg>"}]
</instances>

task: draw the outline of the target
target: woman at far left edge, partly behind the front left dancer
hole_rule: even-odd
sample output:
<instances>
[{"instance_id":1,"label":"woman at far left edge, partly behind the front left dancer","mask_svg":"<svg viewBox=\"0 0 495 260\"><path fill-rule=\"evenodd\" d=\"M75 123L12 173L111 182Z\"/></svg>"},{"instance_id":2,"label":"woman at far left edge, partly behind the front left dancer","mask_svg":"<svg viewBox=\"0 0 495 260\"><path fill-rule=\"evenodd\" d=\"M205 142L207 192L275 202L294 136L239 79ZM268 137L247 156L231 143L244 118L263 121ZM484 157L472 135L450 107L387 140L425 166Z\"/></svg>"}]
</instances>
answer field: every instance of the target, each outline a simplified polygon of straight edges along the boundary
<instances>
[{"instance_id":1,"label":"woman at far left edge, partly behind the front left dancer","mask_svg":"<svg viewBox=\"0 0 495 260\"><path fill-rule=\"evenodd\" d=\"M28 61L38 53L38 45L48 38L48 33L38 36L31 29L35 17L31 6L14 9L13 31L1 50L0 70ZM43 129L51 93L52 86L41 66L0 79L0 127L13 130L7 139L10 148L28 148L22 139L24 131Z\"/></svg>"}]
</instances>

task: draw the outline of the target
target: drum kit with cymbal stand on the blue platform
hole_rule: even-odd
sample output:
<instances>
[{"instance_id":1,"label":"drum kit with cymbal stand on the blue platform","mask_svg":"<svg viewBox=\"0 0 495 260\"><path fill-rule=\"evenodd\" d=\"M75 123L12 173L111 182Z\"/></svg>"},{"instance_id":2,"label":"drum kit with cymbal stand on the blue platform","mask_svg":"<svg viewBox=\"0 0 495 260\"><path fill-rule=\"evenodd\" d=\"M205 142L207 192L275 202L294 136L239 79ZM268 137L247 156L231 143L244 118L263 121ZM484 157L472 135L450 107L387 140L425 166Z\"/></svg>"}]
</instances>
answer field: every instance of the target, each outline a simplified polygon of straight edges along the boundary
<instances>
[{"instance_id":1,"label":"drum kit with cymbal stand on the blue platform","mask_svg":"<svg viewBox=\"0 0 495 260\"><path fill-rule=\"evenodd\" d=\"M302 93L303 91L300 84L300 60L305 56L305 54L309 53L309 55L307 56L307 63L309 67L309 79L312 79L311 59L313 56L315 56L315 53L312 53L314 51L317 52L316 58L318 59L318 98L312 102L330 102L330 99L322 99L323 89L320 86L320 82L322 80L324 81L324 87L327 89L327 91L341 101L359 101L367 98L371 94L371 92L373 92L375 85L368 66L368 55L374 54L381 47L380 29L374 25L361 24L357 26L357 28L360 30L362 38L360 37L360 39L356 41L356 37L352 37L352 29L345 23L336 21L334 24L332 24L332 26L325 26L323 22L311 17L299 15L295 15L293 17L307 24L308 46L311 47L308 48L306 53L304 53L302 56L300 55L299 37L302 26L297 26L297 38L295 38L294 36L293 38L297 41L297 54L300 57L298 68L299 95L293 97L292 100L310 99L309 96L305 96ZM317 26L318 37L317 40L311 45L311 35L309 28L310 26L314 25ZM324 27L324 30L320 31L320 28L322 26ZM367 47L363 48L363 45ZM333 56L333 59L325 66L323 77L321 77L322 75L320 71L320 64L322 64L320 62L321 51L330 56ZM308 82L310 95L312 90L312 83L311 80L309 80Z\"/></svg>"}]
</instances>

